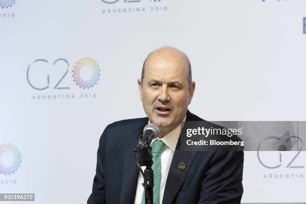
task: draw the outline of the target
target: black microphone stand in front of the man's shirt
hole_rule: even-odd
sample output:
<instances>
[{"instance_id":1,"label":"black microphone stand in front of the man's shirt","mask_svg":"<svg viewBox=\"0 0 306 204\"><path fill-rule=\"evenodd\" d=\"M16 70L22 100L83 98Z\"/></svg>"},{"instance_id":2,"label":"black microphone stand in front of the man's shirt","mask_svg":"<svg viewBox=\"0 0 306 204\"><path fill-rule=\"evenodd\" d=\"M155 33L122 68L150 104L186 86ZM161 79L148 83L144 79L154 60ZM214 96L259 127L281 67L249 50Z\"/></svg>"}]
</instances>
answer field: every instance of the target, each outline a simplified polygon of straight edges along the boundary
<instances>
[{"instance_id":1,"label":"black microphone stand in front of the man's shirt","mask_svg":"<svg viewBox=\"0 0 306 204\"><path fill-rule=\"evenodd\" d=\"M141 138L141 137L140 137ZM154 186L154 175L152 170L152 150L150 144L147 143L146 147L140 152L139 160L137 159L137 152L135 151L135 160L137 166L143 176L142 186L144 188L145 204L153 204L153 186ZM140 166L146 166L144 172Z\"/></svg>"}]
</instances>

